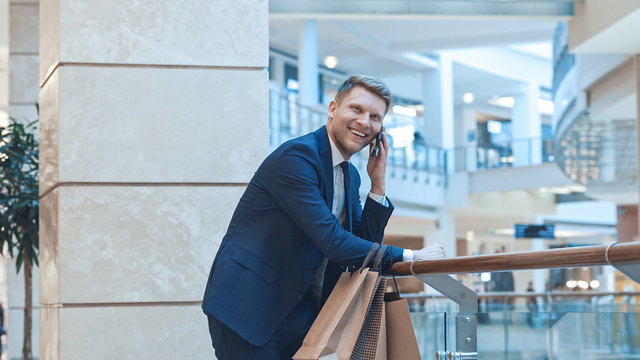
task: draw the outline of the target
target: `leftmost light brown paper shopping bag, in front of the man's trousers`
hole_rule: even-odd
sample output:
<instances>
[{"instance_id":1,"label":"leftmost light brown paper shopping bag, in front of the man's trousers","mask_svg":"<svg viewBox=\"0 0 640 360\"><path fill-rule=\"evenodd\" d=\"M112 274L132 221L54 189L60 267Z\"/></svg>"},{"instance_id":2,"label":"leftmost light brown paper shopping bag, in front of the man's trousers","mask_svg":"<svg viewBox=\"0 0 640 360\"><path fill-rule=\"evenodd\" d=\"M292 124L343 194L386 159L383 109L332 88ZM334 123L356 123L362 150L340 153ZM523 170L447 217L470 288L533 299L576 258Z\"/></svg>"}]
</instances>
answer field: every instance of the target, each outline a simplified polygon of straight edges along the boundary
<instances>
[{"instance_id":1,"label":"leftmost light brown paper shopping bag, in front of the man's trousers","mask_svg":"<svg viewBox=\"0 0 640 360\"><path fill-rule=\"evenodd\" d=\"M294 360L349 359L379 284L378 273L365 268L379 248L374 243L360 269L340 275Z\"/></svg>"}]
</instances>

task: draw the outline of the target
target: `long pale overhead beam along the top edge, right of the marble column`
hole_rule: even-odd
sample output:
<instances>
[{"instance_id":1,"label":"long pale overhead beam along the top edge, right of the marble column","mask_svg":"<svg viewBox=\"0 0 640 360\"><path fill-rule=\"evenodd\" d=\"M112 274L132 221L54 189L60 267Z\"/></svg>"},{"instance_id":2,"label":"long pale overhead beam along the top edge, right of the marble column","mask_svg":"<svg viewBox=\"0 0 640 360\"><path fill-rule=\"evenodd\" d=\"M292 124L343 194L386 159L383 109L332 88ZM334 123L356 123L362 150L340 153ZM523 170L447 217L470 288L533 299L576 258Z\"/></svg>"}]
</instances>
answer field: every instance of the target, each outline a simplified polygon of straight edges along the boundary
<instances>
[{"instance_id":1,"label":"long pale overhead beam along the top edge, right of the marble column","mask_svg":"<svg viewBox=\"0 0 640 360\"><path fill-rule=\"evenodd\" d=\"M567 20L574 1L271 0L272 19Z\"/></svg>"}]
</instances>

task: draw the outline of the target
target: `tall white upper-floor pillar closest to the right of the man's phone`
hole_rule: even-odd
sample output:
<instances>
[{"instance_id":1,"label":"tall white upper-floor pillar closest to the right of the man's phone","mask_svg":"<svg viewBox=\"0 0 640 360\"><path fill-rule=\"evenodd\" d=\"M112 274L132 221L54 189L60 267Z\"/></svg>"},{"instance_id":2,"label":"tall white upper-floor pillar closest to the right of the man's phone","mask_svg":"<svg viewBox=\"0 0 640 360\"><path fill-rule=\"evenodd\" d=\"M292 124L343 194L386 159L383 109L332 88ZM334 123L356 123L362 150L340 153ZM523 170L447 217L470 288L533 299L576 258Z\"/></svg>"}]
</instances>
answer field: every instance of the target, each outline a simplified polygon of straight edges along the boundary
<instances>
[{"instance_id":1,"label":"tall white upper-floor pillar closest to the right of the man's phone","mask_svg":"<svg viewBox=\"0 0 640 360\"><path fill-rule=\"evenodd\" d=\"M424 105L425 142L430 146L452 150L455 140L451 59L441 55L438 69L424 72L423 79L422 103ZM449 172L452 172L454 163L452 152L448 152L447 169Z\"/></svg>"}]
</instances>

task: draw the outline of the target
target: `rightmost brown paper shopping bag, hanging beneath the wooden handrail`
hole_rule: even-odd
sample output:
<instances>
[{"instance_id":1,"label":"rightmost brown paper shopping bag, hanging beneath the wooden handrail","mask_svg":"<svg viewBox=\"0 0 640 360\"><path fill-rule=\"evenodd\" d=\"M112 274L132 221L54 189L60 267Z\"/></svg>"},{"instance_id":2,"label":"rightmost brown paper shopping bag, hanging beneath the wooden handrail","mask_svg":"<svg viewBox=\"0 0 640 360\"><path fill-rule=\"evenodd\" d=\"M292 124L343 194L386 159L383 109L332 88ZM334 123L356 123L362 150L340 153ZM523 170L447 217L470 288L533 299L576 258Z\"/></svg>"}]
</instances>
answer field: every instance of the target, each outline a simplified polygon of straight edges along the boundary
<instances>
[{"instance_id":1,"label":"rightmost brown paper shopping bag, hanging beneath the wooden handrail","mask_svg":"<svg viewBox=\"0 0 640 360\"><path fill-rule=\"evenodd\" d=\"M395 292L386 293L384 301L387 322L387 359L420 360L420 350L413 331L407 300Z\"/></svg>"}]
</instances>

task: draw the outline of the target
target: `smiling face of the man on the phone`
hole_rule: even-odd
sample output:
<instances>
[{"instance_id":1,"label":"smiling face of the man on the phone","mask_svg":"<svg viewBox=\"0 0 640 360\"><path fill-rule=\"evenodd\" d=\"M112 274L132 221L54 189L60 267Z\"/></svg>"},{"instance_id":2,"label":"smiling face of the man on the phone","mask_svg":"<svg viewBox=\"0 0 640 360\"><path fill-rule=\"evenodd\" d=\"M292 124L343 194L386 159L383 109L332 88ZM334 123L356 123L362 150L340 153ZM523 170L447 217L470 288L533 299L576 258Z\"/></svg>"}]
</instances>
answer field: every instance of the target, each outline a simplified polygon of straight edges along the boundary
<instances>
[{"instance_id":1,"label":"smiling face of the man on the phone","mask_svg":"<svg viewBox=\"0 0 640 360\"><path fill-rule=\"evenodd\" d=\"M360 86L352 88L339 104L331 101L327 132L345 160L378 135L385 110L381 97Z\"/></svg>"}]
</instances>

